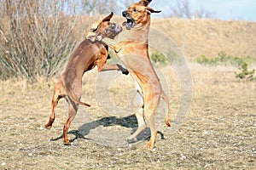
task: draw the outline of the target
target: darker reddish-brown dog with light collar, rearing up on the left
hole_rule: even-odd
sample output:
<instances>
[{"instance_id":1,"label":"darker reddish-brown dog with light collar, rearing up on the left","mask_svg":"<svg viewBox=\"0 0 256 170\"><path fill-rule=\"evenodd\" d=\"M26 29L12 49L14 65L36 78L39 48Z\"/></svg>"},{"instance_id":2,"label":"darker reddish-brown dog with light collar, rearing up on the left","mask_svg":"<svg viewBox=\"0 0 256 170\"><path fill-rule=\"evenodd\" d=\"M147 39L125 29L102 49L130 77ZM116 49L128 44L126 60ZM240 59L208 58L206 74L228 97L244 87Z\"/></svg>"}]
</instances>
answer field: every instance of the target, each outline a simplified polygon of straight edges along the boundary
<instances>
[{"instance_id":1,"label":"darker reddish-brown dog with light collar, rearing up on the left","mask_svg":"<svg viewBox=\"0 0 256 170\"><path fill-rule=\"evenodd\" d=\"M80 43L79 47L71 54L66 70L55 85L52 99L52 112L49 116L49 122L45 127L52 127L55 121L55 107L59 99L65 98L68 103L69 111L67 122L63 128L64 144L70 144L70 141L67 139L67 130L77 114L78 105L90 106L79 101L82 94L82 77L84 72L90 71L97 65L98 71L121 70L124 74L128 74L128 71L121 65L106 64L108 47L105 47L106 45L99 41L104 37L114 38L122 31L121 26L109 22L112 17L113 13L97 23L96 26L93 26L91 32L94 36L91 36L90 33L86 34L93 39L93 42L85 38L84 41Z\"/></svg>"}]
</instances>

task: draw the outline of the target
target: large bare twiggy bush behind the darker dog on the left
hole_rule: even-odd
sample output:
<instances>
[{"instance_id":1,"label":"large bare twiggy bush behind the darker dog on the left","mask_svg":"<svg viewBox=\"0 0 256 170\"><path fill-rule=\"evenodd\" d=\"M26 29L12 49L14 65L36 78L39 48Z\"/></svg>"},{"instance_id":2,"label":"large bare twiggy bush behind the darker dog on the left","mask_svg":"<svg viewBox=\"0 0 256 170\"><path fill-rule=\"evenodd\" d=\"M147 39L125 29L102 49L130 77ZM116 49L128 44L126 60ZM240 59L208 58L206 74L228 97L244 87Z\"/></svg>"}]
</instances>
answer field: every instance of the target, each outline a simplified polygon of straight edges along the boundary
<instances>
[{"instance_id":1,"label":"large bare twiggy bush behind the darker dog on the left","mask_svg":"<svg viewBox=\"0 0 256 170\"><path fill-rule=\"evenodd\" d=\"M0 77L48 79L77 44L77 18L61 0L0 1ZM62 14L62 15L61 15Z\"/></svg>"}]
</instances>

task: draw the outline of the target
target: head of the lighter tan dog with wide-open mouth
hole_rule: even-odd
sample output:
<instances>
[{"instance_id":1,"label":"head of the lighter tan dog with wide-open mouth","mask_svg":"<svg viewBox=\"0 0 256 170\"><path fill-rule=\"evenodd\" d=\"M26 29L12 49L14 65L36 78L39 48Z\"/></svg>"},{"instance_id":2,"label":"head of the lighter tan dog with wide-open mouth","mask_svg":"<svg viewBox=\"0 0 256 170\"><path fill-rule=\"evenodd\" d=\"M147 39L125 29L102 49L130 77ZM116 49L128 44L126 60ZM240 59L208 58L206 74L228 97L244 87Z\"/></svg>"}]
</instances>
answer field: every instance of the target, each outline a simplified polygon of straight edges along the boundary
<instances>
[{"instance_id":1,"label":"head of the lighter tan dog with wide-open mouth","mask_svg":"<svg viewBox=\"0 0 256 170\"><path fill-rule=\"evenodd\" d=\"M139 3L133 3L123 12L123 16L127 21L123 23L127 30L131 30L134 26L144 26L150 22L150 14L160 13L153 8L149 8L148 4L152 0L141 0Z\"/></svg>"}]
</instances>

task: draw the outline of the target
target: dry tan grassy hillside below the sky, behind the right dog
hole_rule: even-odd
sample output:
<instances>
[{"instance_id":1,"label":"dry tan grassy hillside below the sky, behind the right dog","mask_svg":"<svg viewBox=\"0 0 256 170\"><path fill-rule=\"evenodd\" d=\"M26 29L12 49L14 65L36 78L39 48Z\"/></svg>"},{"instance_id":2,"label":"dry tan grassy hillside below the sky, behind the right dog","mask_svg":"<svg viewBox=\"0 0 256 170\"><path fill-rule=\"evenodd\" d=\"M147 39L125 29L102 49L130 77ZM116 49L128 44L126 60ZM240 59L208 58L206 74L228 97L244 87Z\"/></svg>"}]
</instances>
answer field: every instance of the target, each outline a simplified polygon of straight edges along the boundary
<instances>
[{"instance_id":1,"label":"dry tan grassy hillside below the sky, behind the right dog","mask_svg":"<svg viewBox=\"0 0 256 170\"><path fill-rule=\"evenodd\" d=\"M256 23L242 20L155 19L154 28L169 35L185 54L195 59L201 54L215 57L220 51L232 56L256 58Z\"/></svg>"}]
</instances>

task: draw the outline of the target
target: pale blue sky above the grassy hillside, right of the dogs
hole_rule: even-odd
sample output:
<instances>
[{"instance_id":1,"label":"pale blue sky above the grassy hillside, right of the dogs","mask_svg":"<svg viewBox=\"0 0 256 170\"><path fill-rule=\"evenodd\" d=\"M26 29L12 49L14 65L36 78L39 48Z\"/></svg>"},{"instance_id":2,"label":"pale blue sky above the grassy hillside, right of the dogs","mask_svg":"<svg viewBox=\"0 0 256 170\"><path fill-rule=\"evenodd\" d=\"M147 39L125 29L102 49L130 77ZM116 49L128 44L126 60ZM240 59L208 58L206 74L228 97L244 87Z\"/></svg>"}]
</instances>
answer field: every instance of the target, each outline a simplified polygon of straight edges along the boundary
<instances>
[{"instance_id":1,"label":"pale blue sky above the grassy hillside, right of the dogs","mask_svg":"<svg viewBox=\"0 0 256 170\"><path fill-rule=\"evenodd\" d=\"M150 7L161 9L163 15L168 15L170 6L176 0L153 0ZM189 0L190 7L204 8L221 20L250 20L256 21L256 0Z\"/></svg>"}]
</instances>

